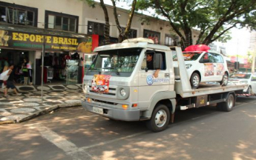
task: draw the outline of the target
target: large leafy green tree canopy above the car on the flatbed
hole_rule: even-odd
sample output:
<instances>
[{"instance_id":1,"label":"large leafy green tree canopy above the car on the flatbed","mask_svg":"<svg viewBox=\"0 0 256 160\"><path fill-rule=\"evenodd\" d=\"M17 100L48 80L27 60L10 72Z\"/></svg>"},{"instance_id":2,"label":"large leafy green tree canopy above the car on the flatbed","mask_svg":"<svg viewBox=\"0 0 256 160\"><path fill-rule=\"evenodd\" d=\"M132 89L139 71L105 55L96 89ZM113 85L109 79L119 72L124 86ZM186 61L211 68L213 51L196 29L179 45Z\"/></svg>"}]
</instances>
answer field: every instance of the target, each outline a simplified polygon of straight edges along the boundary
<instances>
[{"instance_id":1,"label":"large leafy green tree canopy above the car on the flatbed","mask_svg":"<svg viewBox=\"0 0 256 160\"><path fill-rule=\"evenodd\" d=\"M232 27L255 26L256 0L138 0L138 9L154 8L180 36L182 47L193 44L192 29L200 34L196 44L230 39ZM240 25L239 25L240 24Z\"/></svg>"}]
</instances>

